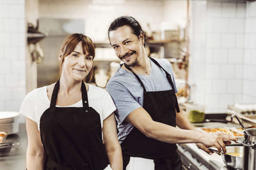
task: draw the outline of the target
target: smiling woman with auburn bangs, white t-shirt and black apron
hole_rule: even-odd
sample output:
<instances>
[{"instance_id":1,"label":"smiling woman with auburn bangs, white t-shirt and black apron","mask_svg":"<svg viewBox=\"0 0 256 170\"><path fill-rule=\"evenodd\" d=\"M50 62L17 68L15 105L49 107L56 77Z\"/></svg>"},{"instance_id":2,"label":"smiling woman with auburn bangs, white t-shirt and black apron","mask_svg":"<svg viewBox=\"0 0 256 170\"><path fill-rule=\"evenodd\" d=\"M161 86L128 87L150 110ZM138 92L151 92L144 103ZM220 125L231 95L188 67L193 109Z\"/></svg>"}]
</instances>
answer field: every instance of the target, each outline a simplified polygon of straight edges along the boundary
<instances>
[{"instance_id":1,"label":"smiling woman with auburn bangs, white t-shirt and black apron","mask_svg":"<svg viewBox=\"0 0 256 170\"><path fill-rule=\"evenodd\" d=\"M59 56L60 80L25 97L20 113L26 116L28 170L122 169L115 105L106 90L83 81L92 77L94 55L90 38L68 36Z\"/></svg>"}]
</instances>

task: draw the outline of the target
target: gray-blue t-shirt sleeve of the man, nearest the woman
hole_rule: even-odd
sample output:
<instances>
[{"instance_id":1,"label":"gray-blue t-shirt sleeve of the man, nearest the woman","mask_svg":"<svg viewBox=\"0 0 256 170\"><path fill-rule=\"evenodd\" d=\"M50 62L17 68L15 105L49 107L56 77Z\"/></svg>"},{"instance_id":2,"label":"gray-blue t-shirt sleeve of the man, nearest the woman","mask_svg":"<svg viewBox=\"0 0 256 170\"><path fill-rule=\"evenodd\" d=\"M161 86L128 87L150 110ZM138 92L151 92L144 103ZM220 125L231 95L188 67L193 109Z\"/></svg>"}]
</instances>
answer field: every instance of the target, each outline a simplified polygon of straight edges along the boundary
<instances>
[{"instance_id":1,"label":"gray-blue t-shirt sleeve of the man, nearest the woman","mask_svg":"<svg viewBox=\"0 0 256 170\"><path fill-rule=\"evenodd\" d=\"M142 107L129 90L116 81L109 81L107 90L116 105L116 118L120 124L132 111Z\"/></svg>"}]
</instances>

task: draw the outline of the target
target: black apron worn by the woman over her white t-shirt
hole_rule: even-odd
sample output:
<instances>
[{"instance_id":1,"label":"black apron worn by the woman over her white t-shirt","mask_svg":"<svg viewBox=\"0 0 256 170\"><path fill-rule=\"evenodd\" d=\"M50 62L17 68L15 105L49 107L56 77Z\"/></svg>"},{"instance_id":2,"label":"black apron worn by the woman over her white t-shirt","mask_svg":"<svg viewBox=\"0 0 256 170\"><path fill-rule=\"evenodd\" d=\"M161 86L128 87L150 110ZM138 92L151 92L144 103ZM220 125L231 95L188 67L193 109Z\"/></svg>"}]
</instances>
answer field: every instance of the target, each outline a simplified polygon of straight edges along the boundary
<instances>
[{"instance_id":1,"label":"black apron worn by the woman over her white t-shirt","mask_svg":"<svg viewBox=\"0 0 256 170\"><path fill-rule=\"evenodd\" d=\"M100 115L89 107L84 82L83 107L56 107L60 80L54 86L51 106L40 118L40 136L47 170L102 170L108 156L102 143Z\"/></svg>"}]
</instances>

